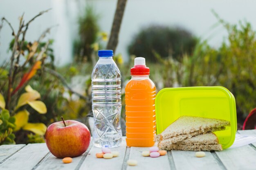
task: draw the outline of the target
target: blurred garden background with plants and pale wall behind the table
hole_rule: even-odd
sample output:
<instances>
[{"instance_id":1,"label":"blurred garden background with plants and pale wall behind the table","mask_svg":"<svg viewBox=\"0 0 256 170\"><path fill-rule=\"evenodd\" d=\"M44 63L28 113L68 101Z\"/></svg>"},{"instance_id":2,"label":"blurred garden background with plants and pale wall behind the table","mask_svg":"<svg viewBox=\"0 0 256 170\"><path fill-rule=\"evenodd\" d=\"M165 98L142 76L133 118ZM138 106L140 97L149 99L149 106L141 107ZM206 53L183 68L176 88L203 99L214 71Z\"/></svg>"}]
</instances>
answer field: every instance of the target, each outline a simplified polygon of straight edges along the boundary
<instances>
[{"instance_id":1,"label":"blurred garden background with plants and pale wall behind the table","mask_svg":"<svg viewBox=\"0 0 256 170\"><path fill-rule=\"evenodd\" d=\"M124 87L135 56L141 56L158 91L229 89L242 129L256 107L255 5L254 0L1 0L0 144L43 142L46 126L60 116L86 123L91 72L97 51L107 47L122 74L123 118ZM254 129L255 122L252 116L247 126Z\"/></svg>"}]
</instances>

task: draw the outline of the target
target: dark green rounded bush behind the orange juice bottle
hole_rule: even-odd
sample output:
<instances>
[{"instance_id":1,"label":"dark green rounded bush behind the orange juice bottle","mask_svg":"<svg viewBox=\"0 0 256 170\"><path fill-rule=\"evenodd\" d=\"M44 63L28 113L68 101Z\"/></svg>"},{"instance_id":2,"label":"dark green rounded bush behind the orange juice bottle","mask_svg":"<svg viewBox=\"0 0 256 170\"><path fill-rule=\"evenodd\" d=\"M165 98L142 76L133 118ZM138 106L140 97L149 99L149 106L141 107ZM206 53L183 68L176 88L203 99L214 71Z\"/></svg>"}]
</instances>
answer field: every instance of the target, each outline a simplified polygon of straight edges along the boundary
<instances>
[{"instance_id":1,"label":"dark green rounded bush behind the orange juice bottle","mask_svg":"<svg viewBox=\"0 0 256 170\"><path fill-rule=\"evenodd\" d=\"M191 54L197 40L182 28L149 26L133 38L128 47L129 54L143 56L147 61L156 61L154 51L161 57L173 56L179 59Z\"/></svg>"}]
</instances>

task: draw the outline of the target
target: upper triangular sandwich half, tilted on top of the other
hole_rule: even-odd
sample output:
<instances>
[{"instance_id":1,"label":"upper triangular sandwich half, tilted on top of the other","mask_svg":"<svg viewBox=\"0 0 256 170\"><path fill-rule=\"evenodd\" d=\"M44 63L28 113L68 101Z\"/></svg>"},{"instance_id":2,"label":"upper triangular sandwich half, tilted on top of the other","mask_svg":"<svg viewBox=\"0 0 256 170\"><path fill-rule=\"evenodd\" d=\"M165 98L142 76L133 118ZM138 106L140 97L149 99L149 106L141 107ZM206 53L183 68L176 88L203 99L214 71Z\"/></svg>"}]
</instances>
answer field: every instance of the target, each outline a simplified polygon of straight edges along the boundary
<instances>
[{"instance_id":1,"label":"upper triangular sandwich half, tilted on top of the other","mask_svg":"<svg viewBox=\"0 0 256 170\"><path fill-rule=\"evenodd\" d=\"M156 141L170 139L170 144L183 141L199 134L225 130L230 122L222 119L211 119L196 116L181 116L169 125L161 134L156 136Z\"/></svg>"}]
</instances>

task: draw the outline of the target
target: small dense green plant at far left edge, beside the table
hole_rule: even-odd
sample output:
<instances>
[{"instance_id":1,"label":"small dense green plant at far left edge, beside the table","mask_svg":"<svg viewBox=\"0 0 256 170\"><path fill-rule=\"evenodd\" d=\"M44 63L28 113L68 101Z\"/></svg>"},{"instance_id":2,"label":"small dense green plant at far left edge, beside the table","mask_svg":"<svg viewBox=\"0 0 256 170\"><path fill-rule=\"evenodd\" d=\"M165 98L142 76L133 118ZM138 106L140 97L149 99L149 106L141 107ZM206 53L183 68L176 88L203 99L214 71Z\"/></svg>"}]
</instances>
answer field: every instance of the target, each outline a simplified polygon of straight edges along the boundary
<instances>
[{"instance_id":1,"label":"small dense green plant at far left edge, beside the table","mask_svg":"<svg viewBox=\"0 0 256 170\"><path fill-rule=\"evenodd\" d=\"M15 135L12 133L16 128L15 118L10 116L9 111L2 109L0 112L0 145L15 144Z\"/></svg>"}]
</instances>

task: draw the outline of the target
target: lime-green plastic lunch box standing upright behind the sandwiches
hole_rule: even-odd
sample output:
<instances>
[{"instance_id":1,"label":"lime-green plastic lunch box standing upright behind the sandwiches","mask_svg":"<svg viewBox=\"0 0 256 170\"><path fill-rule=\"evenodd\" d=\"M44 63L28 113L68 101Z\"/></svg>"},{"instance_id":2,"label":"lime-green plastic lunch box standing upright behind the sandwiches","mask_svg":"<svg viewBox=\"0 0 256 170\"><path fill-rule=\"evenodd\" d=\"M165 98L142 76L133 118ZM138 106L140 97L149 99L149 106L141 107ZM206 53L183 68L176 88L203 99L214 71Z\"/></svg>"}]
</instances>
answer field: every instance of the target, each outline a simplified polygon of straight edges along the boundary
<instances>
[{"instance_id":1,"label":"lime-green plastic lunch box standing upright behind the sandwiches","mask_svg":"<svg viewBox=\"0 0 256 170\"><path fill-rule=\"evenodd\" d=\"M223 149L234 143L237 130L236 101L225 87L164 88L155 98L155 115L157 134L182 115L230 121L230 127L214 133Z\"/></svg>"}]
</instances>

